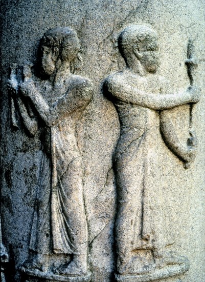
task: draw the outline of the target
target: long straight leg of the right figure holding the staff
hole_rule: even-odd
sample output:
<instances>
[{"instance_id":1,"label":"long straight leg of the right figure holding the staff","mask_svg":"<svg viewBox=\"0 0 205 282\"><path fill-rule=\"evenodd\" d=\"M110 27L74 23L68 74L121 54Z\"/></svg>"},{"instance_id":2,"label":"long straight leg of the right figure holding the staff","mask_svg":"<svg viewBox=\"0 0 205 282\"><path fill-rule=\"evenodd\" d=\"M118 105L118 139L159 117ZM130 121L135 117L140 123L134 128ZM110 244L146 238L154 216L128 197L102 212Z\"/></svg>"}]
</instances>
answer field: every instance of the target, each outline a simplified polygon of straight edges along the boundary
<instances>
[{"instance_id":1,"label":"long straight leg of the right figure holding the staff","mask_svg":"<svg viewBox=\"0 0 205 282\"><path fill-rule=\"evenodd\" d=\"M116 163L118 212L116 219L117 268L120 274L133 268L132 251L143 244L143 158L132 144ZM137 266L136 266L137 267Z\"/></svg>"}]
</instances>

